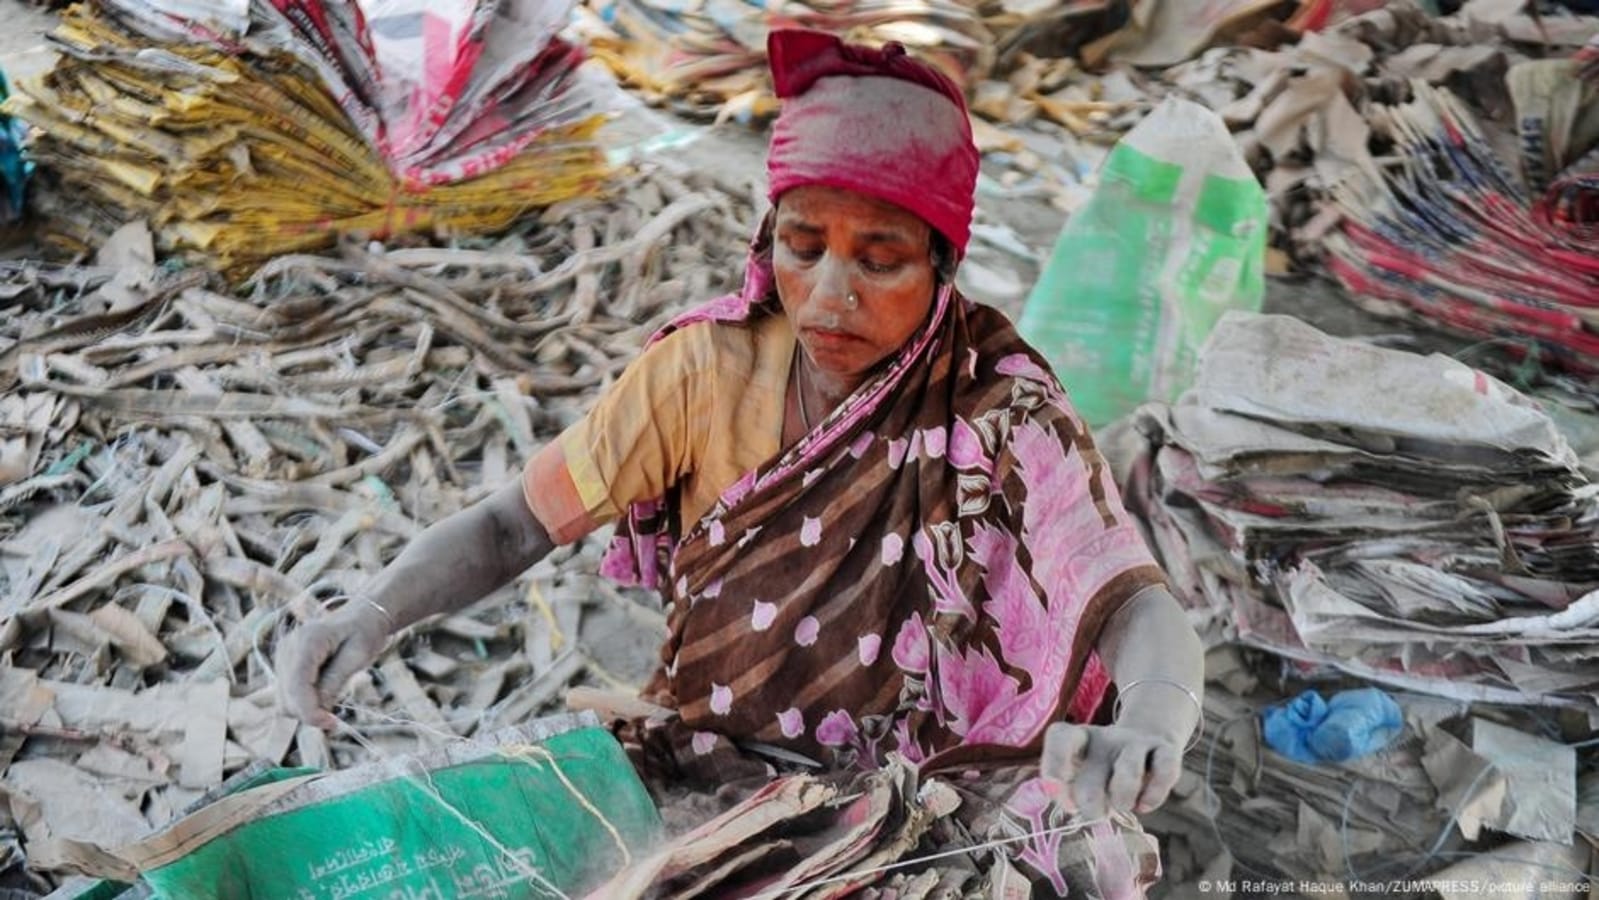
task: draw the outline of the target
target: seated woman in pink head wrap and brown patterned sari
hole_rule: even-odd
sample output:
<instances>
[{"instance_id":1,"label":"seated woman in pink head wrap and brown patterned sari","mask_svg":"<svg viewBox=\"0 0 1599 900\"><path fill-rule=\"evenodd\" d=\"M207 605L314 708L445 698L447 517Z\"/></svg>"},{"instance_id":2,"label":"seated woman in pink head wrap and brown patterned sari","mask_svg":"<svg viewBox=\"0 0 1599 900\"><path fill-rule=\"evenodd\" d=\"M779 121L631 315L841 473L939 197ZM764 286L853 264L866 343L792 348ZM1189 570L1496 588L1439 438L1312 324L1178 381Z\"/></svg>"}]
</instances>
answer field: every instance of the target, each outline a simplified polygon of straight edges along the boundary
<instances>
[{"instance_id":1,"label":"seated woman in pink head wrap and brown patterned sari","mask_svg":"<svg viewBox=\"0 0 1599 900\"><path fill-rule=\"evenodd\" d=\"M979 163L961 93L895 45L780 30L769 53L774 209L744 291L657 336L520 486L296 631L288 708L331 726L393 630L620 521L603 571L672 609L646 699L676 718L625 731L646 771L726 775L750 745L1033 761L1079 815L1153 809L1199 724L1201 647L1047 366L955 291ZM1111 683L1118 716L1087 724Z\"/></svg>"}]
</instances>

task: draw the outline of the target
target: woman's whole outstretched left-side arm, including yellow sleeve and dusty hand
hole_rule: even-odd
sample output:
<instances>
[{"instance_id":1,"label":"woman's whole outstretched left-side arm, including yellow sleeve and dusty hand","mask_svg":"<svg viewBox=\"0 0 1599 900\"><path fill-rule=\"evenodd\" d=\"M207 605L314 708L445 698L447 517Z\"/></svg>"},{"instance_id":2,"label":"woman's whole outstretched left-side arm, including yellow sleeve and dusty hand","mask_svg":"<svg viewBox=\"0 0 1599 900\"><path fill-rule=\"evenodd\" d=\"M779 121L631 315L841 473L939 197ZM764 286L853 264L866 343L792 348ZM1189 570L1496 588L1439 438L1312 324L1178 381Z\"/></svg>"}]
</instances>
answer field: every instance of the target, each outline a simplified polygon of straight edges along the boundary
<instances>
[{"instance_id":1,"label":"woman's whole outstretched left-side arm, including yellow sleeve and dusty hand","mask_svg":"<svg viewBox=\"0 0 1599 900\"><path fill-rule=\"evenodd\" d=\"M288 635L278 651L283 707L333 727L328 705L377 659L392 631L477 603L556 544L580 540L630 504L664 496L694 468L691 448L702 433L696 416L707 408L704 392L713 390L704 372L718 371L716 352L708 328L654 344L580 422L534 454L518 483L429 526L349 604ZM601 494L596 504L579 491L574 462L590 494Z\"/></svg>"}]
</instances>

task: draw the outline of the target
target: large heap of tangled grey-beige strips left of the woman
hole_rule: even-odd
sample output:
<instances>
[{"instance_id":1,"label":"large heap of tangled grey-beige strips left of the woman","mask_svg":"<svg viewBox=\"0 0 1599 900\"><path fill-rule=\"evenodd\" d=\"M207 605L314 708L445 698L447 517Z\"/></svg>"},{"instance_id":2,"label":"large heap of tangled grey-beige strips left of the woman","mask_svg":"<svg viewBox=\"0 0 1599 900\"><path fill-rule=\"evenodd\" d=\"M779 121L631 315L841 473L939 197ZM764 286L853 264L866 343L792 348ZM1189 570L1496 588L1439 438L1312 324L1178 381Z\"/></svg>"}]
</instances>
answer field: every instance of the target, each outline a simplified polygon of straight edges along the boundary
<instances>
[{"instance_id":1,"label":"large heap of tangled grey-beige strips left of the woman","mask_svg":"<svg viewBox=\"0 0 1599 900\"><path fill-rule=\"evenodd\" d=\"M277 710L272 655L736 288L750 195L660 168L496 245L289 256L245 293L152 265L136 225L93 265L0 262L0 894L256 759L344 767L574 681L636 691L665 623L598 577L598 539L413 627L333 735Z\"/></svg>"}]
</instances>

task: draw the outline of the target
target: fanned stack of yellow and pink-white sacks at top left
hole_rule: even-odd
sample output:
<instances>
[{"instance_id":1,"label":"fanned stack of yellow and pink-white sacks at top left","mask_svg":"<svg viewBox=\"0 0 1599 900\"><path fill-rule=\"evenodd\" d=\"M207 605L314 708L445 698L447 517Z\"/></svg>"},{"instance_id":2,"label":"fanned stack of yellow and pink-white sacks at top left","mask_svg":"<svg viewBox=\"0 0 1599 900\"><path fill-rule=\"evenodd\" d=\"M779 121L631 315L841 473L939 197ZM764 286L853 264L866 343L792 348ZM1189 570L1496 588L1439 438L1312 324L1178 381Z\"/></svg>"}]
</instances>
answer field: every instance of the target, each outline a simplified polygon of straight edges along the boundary
<instances>
[{"instance_id":1,"label":"fanned stack of yellow and pink-white sacks at top left","mask_svg":"<svg viewBox=\"0 0 1599 900\"><path fill-rule=\"evenodd\" d=\"M46 237L83 253L146 219L163 253L241 273L339 233L496 232L603 185L568 3L392 6L69 8L56 67L0 107L42 131Z\"/></svg>"}]
</instances>

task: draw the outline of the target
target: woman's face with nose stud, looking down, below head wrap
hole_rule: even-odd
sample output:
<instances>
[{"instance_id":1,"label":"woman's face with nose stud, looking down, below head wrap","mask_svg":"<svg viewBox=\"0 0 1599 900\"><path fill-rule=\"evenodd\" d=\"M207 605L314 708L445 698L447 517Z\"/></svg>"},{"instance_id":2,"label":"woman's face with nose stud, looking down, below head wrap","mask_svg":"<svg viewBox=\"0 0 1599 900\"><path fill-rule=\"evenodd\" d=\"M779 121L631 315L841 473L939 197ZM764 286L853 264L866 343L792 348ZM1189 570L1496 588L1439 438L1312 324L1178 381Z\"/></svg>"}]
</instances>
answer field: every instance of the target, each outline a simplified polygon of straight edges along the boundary
<instances>
[{"instance_id":1,"label":"woman's face with nose stud, looking down, below head wrap","mask_svg":"<svg viewBox=\"0 0 1599 900\"><path fill-rule=\"evenodd\" d=\"M926 321L931 241L916 214L851 190L806 185L777 200L777 297L819 380L833 382L823 387L854 390Z\"/></svg>"}]
</instances>

